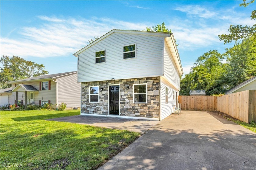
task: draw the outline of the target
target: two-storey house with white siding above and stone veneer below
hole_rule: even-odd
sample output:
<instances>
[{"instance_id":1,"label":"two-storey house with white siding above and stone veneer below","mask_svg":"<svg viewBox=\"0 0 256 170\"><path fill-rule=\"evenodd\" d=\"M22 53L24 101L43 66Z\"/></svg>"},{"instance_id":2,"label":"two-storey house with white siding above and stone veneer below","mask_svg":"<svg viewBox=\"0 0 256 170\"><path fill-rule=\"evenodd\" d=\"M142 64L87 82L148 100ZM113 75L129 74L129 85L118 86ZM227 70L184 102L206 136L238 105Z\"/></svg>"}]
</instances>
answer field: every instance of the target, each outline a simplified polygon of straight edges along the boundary
<instances>
[{"instance_id":1,"label":"two-storey house with white siding above and stone veneer below","mask_svg":"<svg viewBox=\"0 0 256 170\"><path fill-rule=\"evenodd\" d=\"M77 51L81 114L162 120L183 69L172 33L113 29Z\"/></svg>"}]
</instances>

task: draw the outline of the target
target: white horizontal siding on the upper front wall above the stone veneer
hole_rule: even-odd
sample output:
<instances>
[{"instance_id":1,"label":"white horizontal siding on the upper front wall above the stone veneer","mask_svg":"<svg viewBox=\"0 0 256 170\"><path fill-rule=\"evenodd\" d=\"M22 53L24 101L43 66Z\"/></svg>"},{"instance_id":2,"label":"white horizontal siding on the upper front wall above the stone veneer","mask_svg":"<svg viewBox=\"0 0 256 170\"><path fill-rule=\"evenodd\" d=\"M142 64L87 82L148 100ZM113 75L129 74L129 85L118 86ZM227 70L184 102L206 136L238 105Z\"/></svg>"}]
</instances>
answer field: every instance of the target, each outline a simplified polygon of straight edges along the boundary
<instances>
[{"instance_id":1,"label":"white horizontal siding on the upper front wall above the stone veneer","mask_svg":"<svg viewBox=\"0 0 256 170\"><path fill-rule=\"evenodd\" d=\"M136 43L136 58L123 60L123 46ZM112 33L79 54L78 82L163 75L164 37ZM104 64L95 64L95 51L106 49Z\"/></svg>"}]
</instances>

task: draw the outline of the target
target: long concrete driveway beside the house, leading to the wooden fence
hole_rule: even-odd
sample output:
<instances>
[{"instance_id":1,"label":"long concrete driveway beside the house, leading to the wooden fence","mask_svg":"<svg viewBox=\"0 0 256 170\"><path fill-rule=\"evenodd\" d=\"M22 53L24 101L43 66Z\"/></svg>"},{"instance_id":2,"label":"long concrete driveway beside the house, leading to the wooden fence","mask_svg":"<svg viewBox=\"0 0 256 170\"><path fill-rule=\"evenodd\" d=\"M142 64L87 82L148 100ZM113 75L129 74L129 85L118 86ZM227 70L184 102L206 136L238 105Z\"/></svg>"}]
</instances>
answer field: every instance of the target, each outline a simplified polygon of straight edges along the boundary
<instances>
[{"instance_id":1,"label":"long concrete driveway beside the house, leading to the wooden fence","mask_svg":"<svg viewBox=\"0 0 256 170\"><path fill-rule=\"evenodd\" d=\"M256 169L256 134L212 112L182 111L99 169Z\"/></svg>"}]
</instances>

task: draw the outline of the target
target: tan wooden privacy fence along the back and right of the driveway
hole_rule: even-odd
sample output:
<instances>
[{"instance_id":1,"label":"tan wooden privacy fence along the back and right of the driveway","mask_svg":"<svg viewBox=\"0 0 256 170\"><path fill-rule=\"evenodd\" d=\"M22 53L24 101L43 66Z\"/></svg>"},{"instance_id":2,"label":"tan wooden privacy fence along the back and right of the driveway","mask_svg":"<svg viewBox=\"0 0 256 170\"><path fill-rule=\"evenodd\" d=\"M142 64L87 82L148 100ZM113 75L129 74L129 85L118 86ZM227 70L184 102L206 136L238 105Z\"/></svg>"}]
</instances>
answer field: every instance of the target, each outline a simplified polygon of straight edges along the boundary
<instances>
[{"instance_id":1,"label":"tan wooden privacy fence along the back and right of the driveway","mask_svg":"<svg viewBox=\"0 0 256 170\"><path fill-rule=\"evenodd\" d=\"M213 111L218 110L246 123L256 122L256 90L246 90L229 95L178 96L181 109Z\"/></svg>"}]
</instances>

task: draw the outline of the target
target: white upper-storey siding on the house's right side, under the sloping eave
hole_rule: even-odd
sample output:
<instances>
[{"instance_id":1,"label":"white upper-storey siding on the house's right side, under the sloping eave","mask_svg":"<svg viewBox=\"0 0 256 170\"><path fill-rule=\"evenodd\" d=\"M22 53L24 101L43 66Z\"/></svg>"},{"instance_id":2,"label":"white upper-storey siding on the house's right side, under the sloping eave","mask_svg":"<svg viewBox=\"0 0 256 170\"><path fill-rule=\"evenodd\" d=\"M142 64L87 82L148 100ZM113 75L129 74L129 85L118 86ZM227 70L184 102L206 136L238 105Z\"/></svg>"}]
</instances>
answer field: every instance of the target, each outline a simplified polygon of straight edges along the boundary
<instances>
[{"instance_id":1,"label":"white upper-storey siding on the house's right side, under the sloping eave","mask_svg":"<svg viewBox=\"0 0 256 170\"><path fill-rule=\"evenodd\" d=\"M166 42L164 48L164 75L180 89L180 74Z\"/></svg>"}]
</instances>

